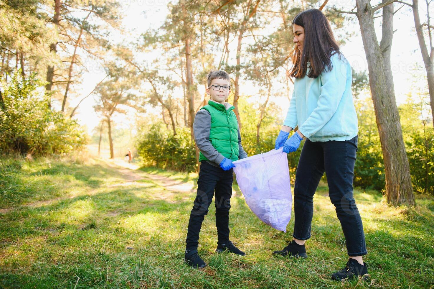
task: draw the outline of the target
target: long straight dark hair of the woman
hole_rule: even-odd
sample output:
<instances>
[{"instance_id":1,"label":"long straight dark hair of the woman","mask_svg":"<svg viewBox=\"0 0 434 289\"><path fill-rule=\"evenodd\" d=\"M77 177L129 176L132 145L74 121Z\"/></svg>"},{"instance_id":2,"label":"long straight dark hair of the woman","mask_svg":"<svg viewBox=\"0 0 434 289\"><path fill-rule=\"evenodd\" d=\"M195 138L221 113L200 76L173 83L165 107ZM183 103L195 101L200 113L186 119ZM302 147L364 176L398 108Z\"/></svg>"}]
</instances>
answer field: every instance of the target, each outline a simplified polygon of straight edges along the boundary
<instances>
[{"instance_id":1,"label":"long straight dark hair of the woman","mask_svg":"<svg viewBox=\"0 0 434 289\"><path fill-rule=\"evenodd\" d=\"M332 69L332 54L338 53L339 44L333 36L329 20L321 10L309 9L297 14L292 25L304 28L302 53L297 47L293 51L293 67L286 72L287 76L302 78L306 75L307 62L310 61L309 77L316 78L323 70ZM288 58L290 55L288 56Z\"/></svg>"}]
</instances>

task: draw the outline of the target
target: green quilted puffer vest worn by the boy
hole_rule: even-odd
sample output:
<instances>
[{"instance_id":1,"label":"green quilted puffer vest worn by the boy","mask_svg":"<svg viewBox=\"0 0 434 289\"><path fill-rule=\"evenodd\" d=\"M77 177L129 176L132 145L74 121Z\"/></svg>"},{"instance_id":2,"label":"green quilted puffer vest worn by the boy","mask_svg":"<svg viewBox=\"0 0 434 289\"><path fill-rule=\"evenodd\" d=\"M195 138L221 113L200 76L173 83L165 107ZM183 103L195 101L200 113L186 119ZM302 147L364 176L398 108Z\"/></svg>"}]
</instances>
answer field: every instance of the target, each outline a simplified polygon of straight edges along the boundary
<instances>
[{"instance_id":1,"label":"green quilted puffer vest worn by the boy","mask_svg":"<svg viewBox=\"0 0 434 289\"><path fill-rule=\"evenodd\" d=\"M235 161L238 159L238 121L233 112L235 107L226 110L223 104L208 100L208 105L201 108L211 114L210 142L224 157ZM199 153L199 161L208 160Z\"/></svg>"}]
</instances>

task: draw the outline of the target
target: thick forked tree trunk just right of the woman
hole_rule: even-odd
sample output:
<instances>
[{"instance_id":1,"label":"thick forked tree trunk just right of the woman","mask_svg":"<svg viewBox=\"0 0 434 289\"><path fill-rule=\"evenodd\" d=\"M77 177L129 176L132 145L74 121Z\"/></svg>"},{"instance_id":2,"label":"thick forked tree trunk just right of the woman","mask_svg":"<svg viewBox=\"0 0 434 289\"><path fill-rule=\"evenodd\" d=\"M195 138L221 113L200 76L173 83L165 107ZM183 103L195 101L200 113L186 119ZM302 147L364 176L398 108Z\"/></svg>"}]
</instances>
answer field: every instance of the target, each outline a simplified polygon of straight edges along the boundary
<instances>
[{"instance_id":1,"label":"thick forked tree trunk just right of the woman","mask_svg":"<svg viewBox=\"0 0 434 289\"><path fill-rule=\"evenodd\" d=\"M385 0L383 0L384 3ZM390 66L393 37L393 4L383 7L382 39L378 45L374 9L369 0L356 0L357 18L368 60L369 83L383 151L387 202L414 205L410 168L402 138Z\"/></svg>"}]
</instances>

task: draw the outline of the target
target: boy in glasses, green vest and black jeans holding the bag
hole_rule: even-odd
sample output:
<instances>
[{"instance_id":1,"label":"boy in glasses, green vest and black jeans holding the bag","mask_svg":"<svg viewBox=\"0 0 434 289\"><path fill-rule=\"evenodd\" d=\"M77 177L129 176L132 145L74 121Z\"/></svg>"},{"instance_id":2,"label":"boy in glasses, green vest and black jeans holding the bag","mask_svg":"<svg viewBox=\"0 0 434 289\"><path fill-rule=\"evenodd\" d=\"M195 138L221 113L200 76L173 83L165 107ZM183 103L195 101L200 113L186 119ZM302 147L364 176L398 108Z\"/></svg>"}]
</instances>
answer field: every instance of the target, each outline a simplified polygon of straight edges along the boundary
<instances>
[{"instance_id":1,"label":"boy in glasses, green vest and black jeans holding the bag","mask_svg":"<svg viewBox=\"0 0 434 289\"><path fill-rule=\"evenodd\" d=\"M240 128L234 106L224 102L230 93L230 77L223 70L212 71L207 77L208 105L194 118L194 140L201 153L201 170L197 180L197 195L188 222L184 262L192 267L207 264L197 254L199 232L208 213L214 191L217 226L216 252L228 251L246 255L229 240L229 209L232 196L233 163L247 157L241 146Z\"/></svg>"}]
</instances>

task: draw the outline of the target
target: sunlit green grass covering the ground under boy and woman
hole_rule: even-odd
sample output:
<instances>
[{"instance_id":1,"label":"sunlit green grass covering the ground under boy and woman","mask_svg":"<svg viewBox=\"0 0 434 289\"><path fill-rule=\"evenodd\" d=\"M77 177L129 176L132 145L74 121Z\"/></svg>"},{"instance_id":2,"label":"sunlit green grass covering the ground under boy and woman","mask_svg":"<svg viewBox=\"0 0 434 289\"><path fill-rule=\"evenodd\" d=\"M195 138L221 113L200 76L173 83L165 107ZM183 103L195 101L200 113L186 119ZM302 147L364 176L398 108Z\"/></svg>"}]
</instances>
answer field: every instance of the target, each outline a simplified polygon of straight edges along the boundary
<instances>
[{"instance_id":1,"label":"sunlit green grass covering the ground under boy and woman","mask_svg":"<svg viewBox=\"0 0 434 289\"><path fill-rule=\"evenodd\" d=\"M194 182L196 175L143 168L143 180L102 160L0 159L0 287L15 288L281 288L434 286L434 199L391 208L375 191L355 190L365 227L372 282L330 280L348 258L334 206L319 187L309 258L272 257L291 239L246 206L237 185L230 236L247 256L214 252L215 208L205 217L199 253L203 270L183 264L194 194L173 192L146 174ZM124 185L118 185L125 183ZM1 212L1 211L0 211ZM134 249L127 249L132 247ZM78 282L77 282L78 281Z\"/></svg>"}]
</instances>

